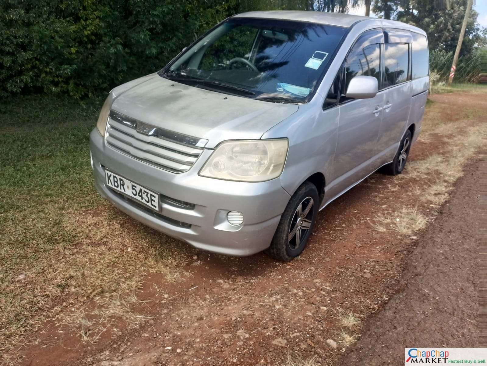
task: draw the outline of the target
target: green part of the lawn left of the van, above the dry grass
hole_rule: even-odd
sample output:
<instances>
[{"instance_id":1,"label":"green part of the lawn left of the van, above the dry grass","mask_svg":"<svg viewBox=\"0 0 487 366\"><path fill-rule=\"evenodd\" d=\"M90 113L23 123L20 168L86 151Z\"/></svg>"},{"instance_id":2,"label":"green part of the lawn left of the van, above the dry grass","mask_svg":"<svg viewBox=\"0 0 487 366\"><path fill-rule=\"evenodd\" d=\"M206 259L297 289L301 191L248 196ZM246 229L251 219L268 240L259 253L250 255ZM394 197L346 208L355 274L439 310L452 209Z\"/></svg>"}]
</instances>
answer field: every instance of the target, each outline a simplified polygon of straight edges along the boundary
<instances>
[{"instance_id":1,"label":"green part of the lawn left of the van, above the dry grass","mask_svg":"<svg viewBox=\"0 0 487 366\"><path fill-rule=\"evenodd\" d=\"M97 118L95 105L58 98L12 100L0 105L0 209L3 216L58 202L70 189L93 204L88 136ZM47 100L53 101L49 107ZM23 199L19 199L23 197ZM3 218L5 220L5 218Z\"/></svg>"}]
</instances>

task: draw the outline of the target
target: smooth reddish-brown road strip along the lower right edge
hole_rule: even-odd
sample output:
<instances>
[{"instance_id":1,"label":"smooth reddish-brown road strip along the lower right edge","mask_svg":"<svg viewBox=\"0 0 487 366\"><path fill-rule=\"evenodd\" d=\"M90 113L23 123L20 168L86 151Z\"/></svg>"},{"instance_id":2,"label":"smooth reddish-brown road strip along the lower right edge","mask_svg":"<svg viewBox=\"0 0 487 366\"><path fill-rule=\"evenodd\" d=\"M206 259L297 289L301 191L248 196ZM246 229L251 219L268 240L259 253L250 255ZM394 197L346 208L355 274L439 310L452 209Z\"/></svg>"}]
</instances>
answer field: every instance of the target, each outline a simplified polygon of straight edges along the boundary
<instances>
[{"instance_id":1,"label":"smooth reddish-brown road strip along the lower right edge","mask_svg":"<svg viewBox=\"0 0 487 366\"><path fill-rule=\"evenodd\" d=\"M480 165L465 169L411 252L399 292L341 365L404 365L404 347L478 347Z\"/></svg>"}]
</instances>

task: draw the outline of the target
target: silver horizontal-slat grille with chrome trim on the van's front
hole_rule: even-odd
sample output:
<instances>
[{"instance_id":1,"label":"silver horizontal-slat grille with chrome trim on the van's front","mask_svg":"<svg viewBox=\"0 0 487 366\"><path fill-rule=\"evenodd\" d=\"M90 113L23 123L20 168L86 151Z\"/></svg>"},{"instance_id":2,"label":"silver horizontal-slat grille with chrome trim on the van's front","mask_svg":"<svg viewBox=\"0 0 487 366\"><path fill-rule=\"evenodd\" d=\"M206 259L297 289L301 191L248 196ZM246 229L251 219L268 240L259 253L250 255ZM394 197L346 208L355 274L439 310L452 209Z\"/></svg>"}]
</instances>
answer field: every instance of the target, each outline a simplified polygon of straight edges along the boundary
<instances>
[{"instance_id":1,"label":"silver horizontal-slat grille with chrome trim on the van's front","mask_svg":"<svg viewBox=\"0 0 487 366\"><path fill-rule=\"evenodd\" d=\"M137 121L113 110L105 136L111 147L173 173L187 171L207 142Z\"/></svg>"}]
</instances>

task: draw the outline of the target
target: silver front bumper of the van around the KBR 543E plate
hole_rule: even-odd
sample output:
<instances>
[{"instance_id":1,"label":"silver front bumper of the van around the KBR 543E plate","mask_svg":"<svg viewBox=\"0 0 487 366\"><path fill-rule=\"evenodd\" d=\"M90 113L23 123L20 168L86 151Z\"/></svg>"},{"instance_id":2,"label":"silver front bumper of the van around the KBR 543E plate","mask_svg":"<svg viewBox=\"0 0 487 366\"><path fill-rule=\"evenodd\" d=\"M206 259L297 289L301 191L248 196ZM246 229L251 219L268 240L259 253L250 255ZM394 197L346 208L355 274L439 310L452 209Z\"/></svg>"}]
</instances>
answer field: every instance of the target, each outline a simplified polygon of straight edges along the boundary
<instances>
[{"instance_id":1,"label":"silver front bumper of the van around the KBR 543E plate","mask_svg":"<svg viewBox=\"0 0 487 366\"><path fill-rule=\"evenodd\" d=\"M212 150L205 150L191 169L179 174L107 146L96 128L90 135L90 150L95 187L103 198L158 231L216 253L245 256L266 249L290 199L279 179L244 183L200 177ZM169 200L161 200L158 213L144 209L105 185L105 168ZM244 224L227 223L231 210L244 214Z\"/></svg>"}]
</instances>

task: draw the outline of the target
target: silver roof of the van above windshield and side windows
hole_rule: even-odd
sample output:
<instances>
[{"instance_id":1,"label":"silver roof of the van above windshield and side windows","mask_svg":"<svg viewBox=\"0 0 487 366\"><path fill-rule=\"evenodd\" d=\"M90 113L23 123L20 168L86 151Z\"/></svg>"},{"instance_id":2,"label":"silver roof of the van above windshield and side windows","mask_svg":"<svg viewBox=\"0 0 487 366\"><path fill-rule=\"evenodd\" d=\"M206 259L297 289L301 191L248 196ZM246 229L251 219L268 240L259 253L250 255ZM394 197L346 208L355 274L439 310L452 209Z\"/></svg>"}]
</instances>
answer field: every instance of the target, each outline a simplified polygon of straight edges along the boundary
<instances>
[{"instance_id":1,"label":"silver roof of the van above windshield and side windows","mask_svg":"<svg viewBox=\"0 0 487 366\"><path fill-rule=\"evenodd\" d=\"M377 19L372 17L362 17L360 15L342 14L342 13L325 13L321 11L302 11L302 10L269 10L269 11L249 11L237 14L237 18L263 18L263 19L282 19L309 21L318 24L337 25L340 27L350 28L357 21L380 21L384 27L396 27L409 29L421 34L426 34L422 29L410 24L402 23L395 20Z\"/></svg>"}]
</instances>

